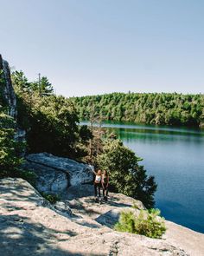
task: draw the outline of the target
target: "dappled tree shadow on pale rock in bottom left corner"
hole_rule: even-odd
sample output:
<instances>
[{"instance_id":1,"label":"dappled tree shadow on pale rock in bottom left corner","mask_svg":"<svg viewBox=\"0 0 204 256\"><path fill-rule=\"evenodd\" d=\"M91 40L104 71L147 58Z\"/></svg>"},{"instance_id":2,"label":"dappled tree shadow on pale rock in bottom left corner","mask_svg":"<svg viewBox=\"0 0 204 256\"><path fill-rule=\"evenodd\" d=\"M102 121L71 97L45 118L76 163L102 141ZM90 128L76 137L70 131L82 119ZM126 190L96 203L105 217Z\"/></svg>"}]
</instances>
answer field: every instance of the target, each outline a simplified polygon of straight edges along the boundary
<instances>
[{"instance_id":1,"label":"dappled tree shadow on pale rock in bottom left corner","mask_svg":"<svg viewBox=\"0 0 204 256\"><path fill-rule=\"evenodd\" d=\"M64 256L64 255L96 255L87 253L70 252L58 246L63 242L77 235L72 231L56 233L40 223L32 223L29 218L17 214L0 216L0 255L3 256Z\"/></svg>"}]
</instances>

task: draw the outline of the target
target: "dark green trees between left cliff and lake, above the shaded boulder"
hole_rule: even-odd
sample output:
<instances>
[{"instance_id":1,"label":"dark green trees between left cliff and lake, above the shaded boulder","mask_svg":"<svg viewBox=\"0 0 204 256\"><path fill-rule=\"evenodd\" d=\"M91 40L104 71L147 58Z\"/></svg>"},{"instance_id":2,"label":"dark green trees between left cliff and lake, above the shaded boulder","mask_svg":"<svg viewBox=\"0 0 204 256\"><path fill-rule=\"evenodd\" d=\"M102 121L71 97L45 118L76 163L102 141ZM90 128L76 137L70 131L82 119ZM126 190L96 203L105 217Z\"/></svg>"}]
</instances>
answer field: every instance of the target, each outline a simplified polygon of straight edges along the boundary
<instances>
[{"instance_id":1,"label":"dark green trees between left cliff and lake, above the shaded boulder","mask_svg":"<svg viewBox=\"0 0 204 256\"><path fill-rule=\"evenodd\" d=\"M78 126L73 102L53 95L52 85L45 76L40 83L28 83L22 74L22 80L17 80L16 76L19 78L18 73L12 74L17 96L17 122L27 131L29 153L45 151L71 158L86 155L85 146L92 134L86 126ZM22 86L25 82L29 86Z\"/></svg>"}]
</instances>

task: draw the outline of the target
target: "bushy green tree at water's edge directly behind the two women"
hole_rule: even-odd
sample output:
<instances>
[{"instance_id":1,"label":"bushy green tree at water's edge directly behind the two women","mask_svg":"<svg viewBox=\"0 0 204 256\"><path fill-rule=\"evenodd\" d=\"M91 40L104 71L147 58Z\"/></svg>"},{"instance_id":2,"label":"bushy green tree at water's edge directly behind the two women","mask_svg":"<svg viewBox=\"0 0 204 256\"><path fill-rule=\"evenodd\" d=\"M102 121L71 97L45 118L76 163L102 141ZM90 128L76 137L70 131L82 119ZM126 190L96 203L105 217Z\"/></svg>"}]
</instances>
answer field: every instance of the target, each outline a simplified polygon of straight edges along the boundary
<instances>
[{"instance_id":1,"label":"bushy green tree at water's edge directly behind the two women","mask_svg":"<svg viewBox=\"0 0 204 256\"><path fill-rule=\"evenodd\" d=\"M145 207L154 206L156 183L153 176L147 176L141 161L122 141L104 141L103 152L98 156L98 165L110 174L110 185L119 193L142 200Z\"/></svg>"}]
</instances>

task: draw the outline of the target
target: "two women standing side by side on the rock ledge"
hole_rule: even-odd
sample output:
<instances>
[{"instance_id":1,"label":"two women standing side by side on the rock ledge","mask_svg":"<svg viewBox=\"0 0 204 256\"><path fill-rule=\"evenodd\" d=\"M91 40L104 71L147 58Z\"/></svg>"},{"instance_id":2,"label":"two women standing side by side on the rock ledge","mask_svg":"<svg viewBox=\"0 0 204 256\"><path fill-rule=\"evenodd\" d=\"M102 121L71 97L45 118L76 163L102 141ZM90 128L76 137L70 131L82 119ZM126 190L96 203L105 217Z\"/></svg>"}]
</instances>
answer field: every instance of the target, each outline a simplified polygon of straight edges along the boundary
<instances>
[{"instance_id":1,"label":"two women standing side by side on the rock ledge","mask_svg":"<svg viewBox=\"0 0 204 256\"><path fill-rule=\"evenodd\" d=\"M93 171L95 174L95 179L93 182L94 185L94 194L96 200L98 200L98 197L100 198L100 188L103 188L103 197L104 200L107 200L108 196L108 185L109 185L109 175L107 171L105 170L103 173L101 170L98 172Z\"/></svg>"}]
</instances>

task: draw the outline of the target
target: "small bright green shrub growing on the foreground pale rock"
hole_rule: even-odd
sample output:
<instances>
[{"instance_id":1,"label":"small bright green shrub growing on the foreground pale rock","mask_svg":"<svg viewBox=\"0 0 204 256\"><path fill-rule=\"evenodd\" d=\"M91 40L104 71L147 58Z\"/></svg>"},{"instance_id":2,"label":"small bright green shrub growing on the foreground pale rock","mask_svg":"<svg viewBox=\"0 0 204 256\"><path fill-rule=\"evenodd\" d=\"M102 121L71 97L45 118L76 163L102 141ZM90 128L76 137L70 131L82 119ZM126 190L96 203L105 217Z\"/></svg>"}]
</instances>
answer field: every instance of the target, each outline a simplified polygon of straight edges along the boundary
<instances>
[{"instance_id":1,"label":"small bright green shrub growing on the foreground pale rock","mask_svg":"<svg viewBox=\"0 0 204 256\"><path fill-rule=\"evenodd\" d=\"M141 210L136 216L133 211L124 211L120 214L115 229L121 232L138 233L150 238L162 238L166 231L164 219L160 217L158 209Z\"/></svg>"}]
</instances>

